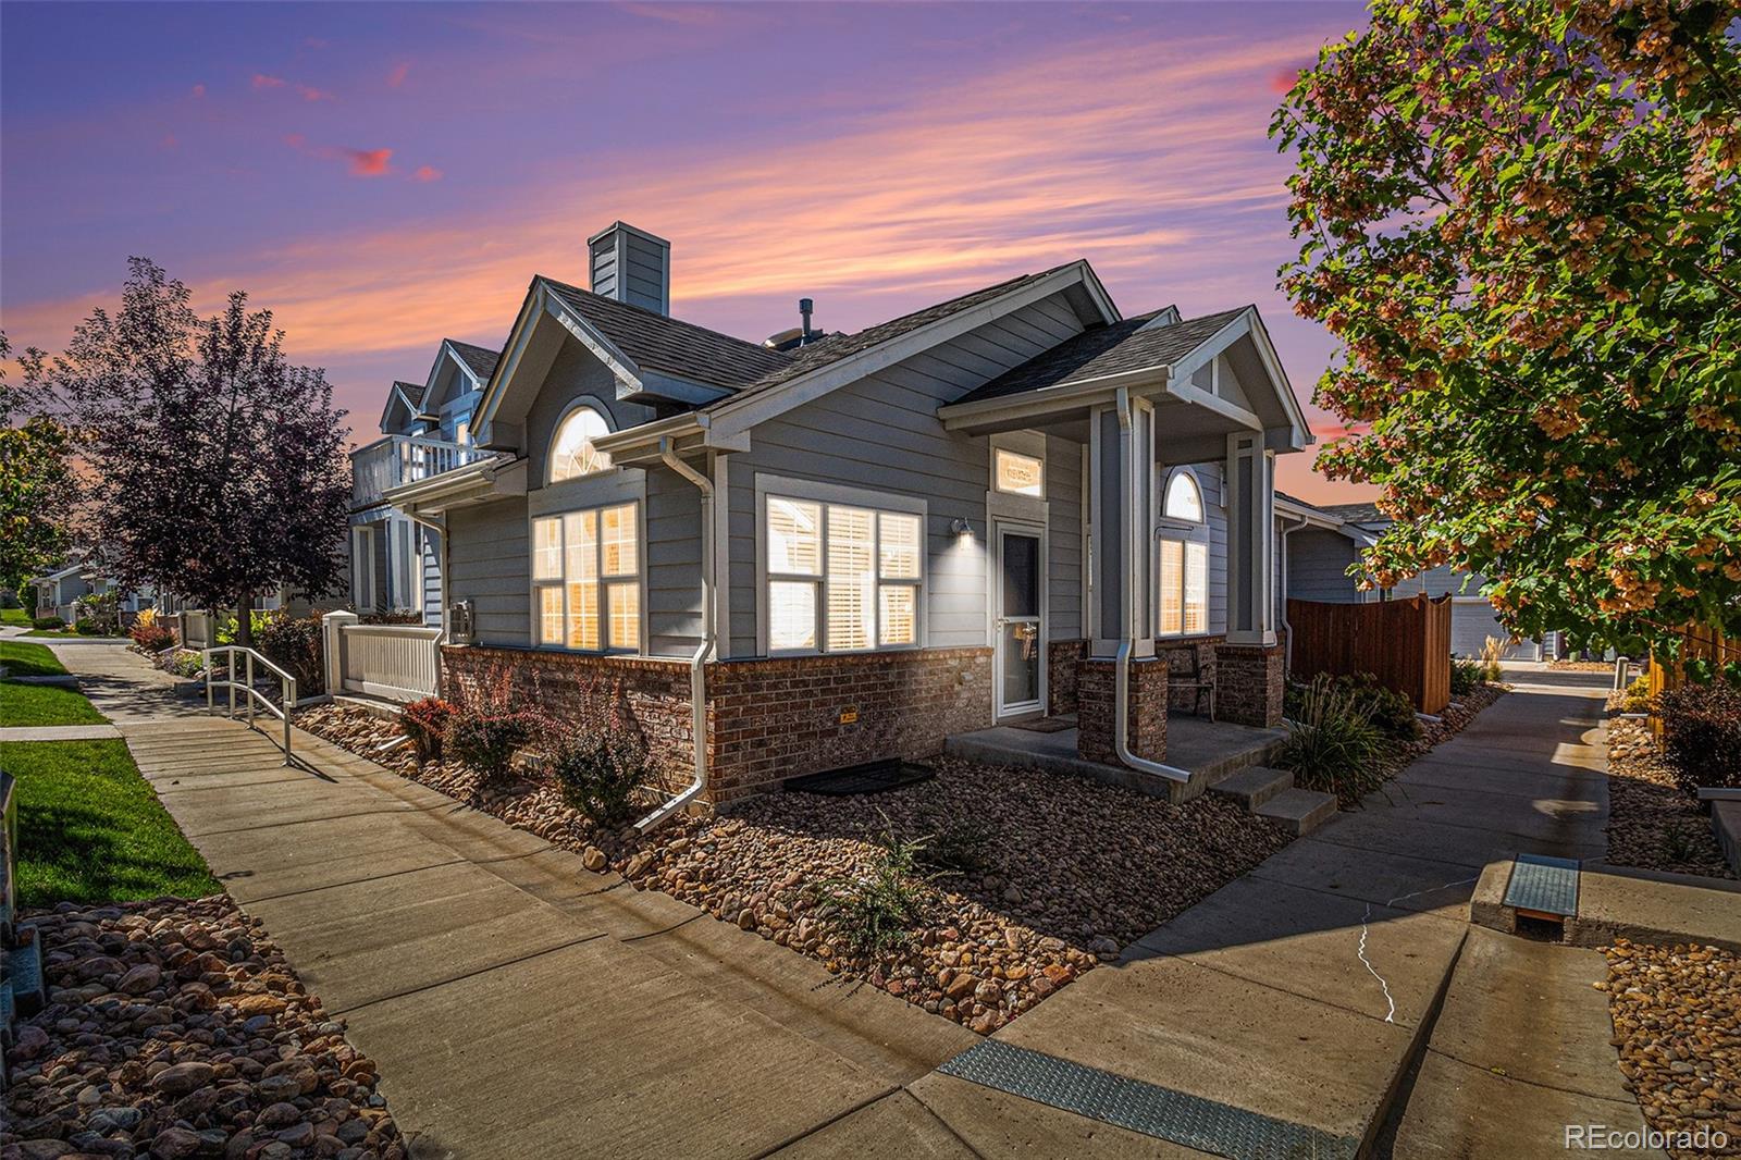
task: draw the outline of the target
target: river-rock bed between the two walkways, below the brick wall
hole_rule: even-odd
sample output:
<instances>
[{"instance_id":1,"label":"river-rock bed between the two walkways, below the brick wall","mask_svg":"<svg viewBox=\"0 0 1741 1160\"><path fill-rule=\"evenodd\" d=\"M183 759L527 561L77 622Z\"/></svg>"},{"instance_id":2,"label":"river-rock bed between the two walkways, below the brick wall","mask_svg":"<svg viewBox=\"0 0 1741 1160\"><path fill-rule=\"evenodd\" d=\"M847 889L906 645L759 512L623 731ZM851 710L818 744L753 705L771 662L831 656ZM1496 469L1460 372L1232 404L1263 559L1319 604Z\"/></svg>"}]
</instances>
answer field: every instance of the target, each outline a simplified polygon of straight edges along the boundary
<instances>
[{"instance_id":1,"label":"river-rock bed between the two walkways, below the brick wall","mask_svg":"<svg viewBox=\"0 0 1741 1160\"><path fill-rule=\"evenodd\" d=\"M402 777L581 852L639 888L820 960L829 970L991 1033L1123 944L1245 874L1288 836L1238 805L1203 796L1182 806L1090 782L968 761L872 796L773 792L728 815L677 819L651 836L604 833L528 780L481 794L463 766L421 770L393 721L322 705L298 725ZM902 946L855 951L818 897L872 874L879 840L930 838L923 914ZM935 866L947 862L947 867Z\"/></svg>"}]
</instances>

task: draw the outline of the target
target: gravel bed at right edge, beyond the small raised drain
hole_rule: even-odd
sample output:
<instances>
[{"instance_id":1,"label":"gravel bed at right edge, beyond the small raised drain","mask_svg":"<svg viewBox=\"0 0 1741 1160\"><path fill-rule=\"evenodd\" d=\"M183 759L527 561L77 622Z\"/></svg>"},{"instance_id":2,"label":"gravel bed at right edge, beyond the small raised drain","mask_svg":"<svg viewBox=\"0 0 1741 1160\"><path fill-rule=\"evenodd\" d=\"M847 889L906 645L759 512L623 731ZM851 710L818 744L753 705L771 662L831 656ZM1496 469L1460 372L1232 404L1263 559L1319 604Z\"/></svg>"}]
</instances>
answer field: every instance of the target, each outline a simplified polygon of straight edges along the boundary
<instances>
[{"instance_id":1,"label":"gravel bed at right edge, beyond the small raised drain","mask_svg":"<svg viewBox=\"0 0 1741 1160\"><path fill-rule=\"evenodd\" d=\"M1644 721L1609 721L1609 862L1734 878L1711 819L1675 784Z\"/></svg>"}]
</instances>

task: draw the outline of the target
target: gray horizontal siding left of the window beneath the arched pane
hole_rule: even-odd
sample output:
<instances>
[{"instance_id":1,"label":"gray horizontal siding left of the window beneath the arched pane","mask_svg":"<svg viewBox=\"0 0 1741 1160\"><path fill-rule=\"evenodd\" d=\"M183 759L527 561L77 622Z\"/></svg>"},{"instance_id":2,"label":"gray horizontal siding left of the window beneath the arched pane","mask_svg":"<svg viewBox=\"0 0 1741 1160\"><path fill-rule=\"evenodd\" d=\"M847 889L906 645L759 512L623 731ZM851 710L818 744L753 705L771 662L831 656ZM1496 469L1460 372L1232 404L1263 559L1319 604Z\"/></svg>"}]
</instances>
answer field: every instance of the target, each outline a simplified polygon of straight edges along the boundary
<instances>
[{"instance_id":1,"label":"gray horizontal siding left of the window beneath the arched pane","mask_svg":"<svg viewBox=\"0 0 1741 1160\"><path fill-rule=\"evenodd\" d=\"M447 514L447 596L472 601L484 644L531 643L531 545L526 500L458 507Z\"/></svg>"}]
</instances>

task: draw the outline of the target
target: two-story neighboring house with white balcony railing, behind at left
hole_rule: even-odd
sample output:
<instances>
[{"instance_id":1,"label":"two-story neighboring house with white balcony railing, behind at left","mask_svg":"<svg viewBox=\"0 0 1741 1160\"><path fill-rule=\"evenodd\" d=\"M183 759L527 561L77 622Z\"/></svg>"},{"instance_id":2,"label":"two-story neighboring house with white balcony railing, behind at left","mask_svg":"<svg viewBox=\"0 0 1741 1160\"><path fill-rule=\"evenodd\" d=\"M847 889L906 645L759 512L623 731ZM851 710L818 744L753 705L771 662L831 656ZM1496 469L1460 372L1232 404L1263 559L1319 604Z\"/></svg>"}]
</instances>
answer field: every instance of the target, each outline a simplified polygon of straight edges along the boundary
<instances>
[{"instance_id":1,"label":"two-story neighboring house with white balcony railing, behind at left","mask_svg":"<svg viewBox=\"0 0 1741 1160\"><path fill-rule=\"evenodd\" d=\"M381 437L350 453L350 603L360 613L421 613L440 627L440 535L383 500L388 488L465 467L491 453L472 441L472 409L496 352L442 340L428 378L397 381Z\"/></svg>"}]
</instances>

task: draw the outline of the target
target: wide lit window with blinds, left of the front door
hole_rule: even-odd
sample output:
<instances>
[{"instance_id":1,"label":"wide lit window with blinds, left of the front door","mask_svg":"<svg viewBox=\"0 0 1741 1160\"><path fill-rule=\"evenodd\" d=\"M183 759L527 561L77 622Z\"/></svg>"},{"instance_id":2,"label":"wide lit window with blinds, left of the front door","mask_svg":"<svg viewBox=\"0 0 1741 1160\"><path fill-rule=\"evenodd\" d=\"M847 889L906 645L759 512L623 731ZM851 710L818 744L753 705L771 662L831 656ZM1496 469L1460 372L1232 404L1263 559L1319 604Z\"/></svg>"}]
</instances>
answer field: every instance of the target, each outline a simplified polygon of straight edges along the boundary
<instances>
[{"instance_id":1,"label":"wide lit window with blinds, left of the front door","mask_svg":"<svg viewBox=\"0 0 1741 1160\"><path fill-rule=\"evenodd\" d=\"M914 648L924 517L797 495L764 496L770 653Z\"/></svg>"}]
</instances>

